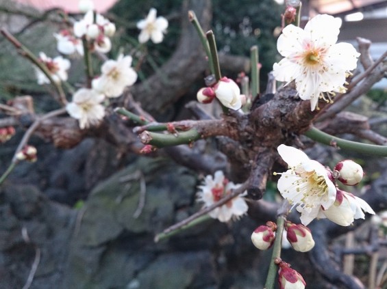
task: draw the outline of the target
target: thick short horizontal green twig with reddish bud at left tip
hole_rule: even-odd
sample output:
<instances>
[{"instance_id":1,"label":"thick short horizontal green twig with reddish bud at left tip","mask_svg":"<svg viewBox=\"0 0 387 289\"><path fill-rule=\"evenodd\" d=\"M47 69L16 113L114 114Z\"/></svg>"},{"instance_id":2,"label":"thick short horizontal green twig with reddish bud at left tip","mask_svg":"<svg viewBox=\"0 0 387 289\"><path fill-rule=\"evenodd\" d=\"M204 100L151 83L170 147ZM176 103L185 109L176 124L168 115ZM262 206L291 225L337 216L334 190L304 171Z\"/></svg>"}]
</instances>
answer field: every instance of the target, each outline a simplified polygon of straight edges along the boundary
<instances>
[{"instance_id":1,"label":"thick short horizontal green twig with reddish bud at left tip","mask_svg":"<svg viewBox=\"0 0 387 289\"><path fill-rule=\"evenodd\" d=\"M140 140L144 144L150 144L156 148L165 148L167 146L178 146L181 144L190 144L201 138L201 134L192 128L187 131L176 133L175 135L152 133L145 130L140 134Z\"/></svg>"}]
</instances>

